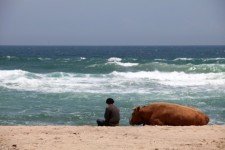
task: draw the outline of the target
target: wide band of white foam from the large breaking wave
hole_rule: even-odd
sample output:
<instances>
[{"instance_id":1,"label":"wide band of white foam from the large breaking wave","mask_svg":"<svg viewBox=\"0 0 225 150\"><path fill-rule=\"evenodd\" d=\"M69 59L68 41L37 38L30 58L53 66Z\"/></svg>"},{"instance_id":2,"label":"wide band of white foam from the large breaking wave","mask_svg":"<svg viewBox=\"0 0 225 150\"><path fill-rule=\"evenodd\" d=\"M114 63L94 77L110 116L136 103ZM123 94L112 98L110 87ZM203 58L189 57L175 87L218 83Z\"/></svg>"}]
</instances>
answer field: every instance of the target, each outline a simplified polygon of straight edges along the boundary
<instances>
[{"instance_id":1,"label":"wide band of white foam from the large breaking wave","mask_svg":"<svg viewBox=\"0 0 225 150\"><path fill-rule=\"evenodd\" d=\"M38 92L149 93L170 88L205 91L225 90L224 73L187 74L184 72L112 72L110 74L31 73L0 70L0 87Z\"/></svg>"}]
</instances>

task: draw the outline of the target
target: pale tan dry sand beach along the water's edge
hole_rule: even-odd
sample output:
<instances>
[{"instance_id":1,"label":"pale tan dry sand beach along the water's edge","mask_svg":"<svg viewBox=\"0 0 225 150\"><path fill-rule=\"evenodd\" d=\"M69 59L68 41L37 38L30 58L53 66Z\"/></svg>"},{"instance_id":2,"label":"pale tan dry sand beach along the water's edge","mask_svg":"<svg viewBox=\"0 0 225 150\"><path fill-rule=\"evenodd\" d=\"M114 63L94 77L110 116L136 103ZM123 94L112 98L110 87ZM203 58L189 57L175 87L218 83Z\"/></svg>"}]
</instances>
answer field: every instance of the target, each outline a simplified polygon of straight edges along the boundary
<instances>
[{"instance_id":1,"label":"pale tan dry sand beach along the water's edge","mask_svg":"<svg viewBox=\"0 0 225 150\"><path fill-rule=\"evenodd\" d=\"M216 150L225 126L0 126L1 150Z\"/></svg>"}]
</instances>

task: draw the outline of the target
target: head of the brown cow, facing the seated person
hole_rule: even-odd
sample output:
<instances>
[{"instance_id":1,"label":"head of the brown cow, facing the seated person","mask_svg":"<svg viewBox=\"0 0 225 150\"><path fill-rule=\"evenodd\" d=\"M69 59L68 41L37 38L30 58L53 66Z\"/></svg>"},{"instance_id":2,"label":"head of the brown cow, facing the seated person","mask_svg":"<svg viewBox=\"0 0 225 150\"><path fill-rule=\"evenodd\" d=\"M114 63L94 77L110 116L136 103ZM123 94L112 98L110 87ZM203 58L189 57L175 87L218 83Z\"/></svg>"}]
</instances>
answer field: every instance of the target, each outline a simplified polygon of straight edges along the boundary
<instances>
[{"instance_id":1,"label":"head of the brown cow, facing the seated person","mask_svg":"<svg viewBox=\"0 0 225 150\"><path fill-rule=\"evenodd\" d=\"M130 119L130 125L140 125L143 124L142 121L142 116L141 116L141 112L140 112L141 107L138 106L136 108L134 108L131 119Z\"/></svg>"}]
</instances>

